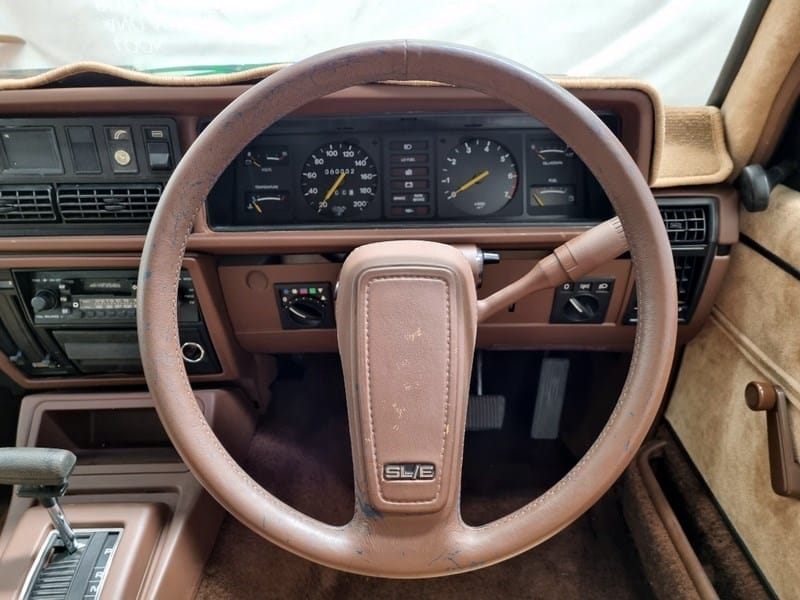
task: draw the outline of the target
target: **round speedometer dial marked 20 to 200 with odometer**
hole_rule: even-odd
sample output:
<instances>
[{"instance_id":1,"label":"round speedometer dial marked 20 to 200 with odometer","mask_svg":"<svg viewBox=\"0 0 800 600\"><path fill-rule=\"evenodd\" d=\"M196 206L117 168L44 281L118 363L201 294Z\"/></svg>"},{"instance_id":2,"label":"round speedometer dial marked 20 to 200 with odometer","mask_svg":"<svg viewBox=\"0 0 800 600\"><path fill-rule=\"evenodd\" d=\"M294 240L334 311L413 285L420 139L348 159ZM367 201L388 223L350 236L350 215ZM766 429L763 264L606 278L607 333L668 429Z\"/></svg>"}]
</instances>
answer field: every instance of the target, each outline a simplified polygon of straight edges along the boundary
<instances>
[{"instance_id":1,"label":"round speedometer dial marked 20 to 200 with odometer","mask_svg":"<svg viewBox=\"0 0 800 600\"><path fill-rule=\"evenodd\" d=\"M375 199L378 169L359 146L331 142L314 150L300 174L303 197L320 215L360 215Z\"/></svg>"}]
</instances>

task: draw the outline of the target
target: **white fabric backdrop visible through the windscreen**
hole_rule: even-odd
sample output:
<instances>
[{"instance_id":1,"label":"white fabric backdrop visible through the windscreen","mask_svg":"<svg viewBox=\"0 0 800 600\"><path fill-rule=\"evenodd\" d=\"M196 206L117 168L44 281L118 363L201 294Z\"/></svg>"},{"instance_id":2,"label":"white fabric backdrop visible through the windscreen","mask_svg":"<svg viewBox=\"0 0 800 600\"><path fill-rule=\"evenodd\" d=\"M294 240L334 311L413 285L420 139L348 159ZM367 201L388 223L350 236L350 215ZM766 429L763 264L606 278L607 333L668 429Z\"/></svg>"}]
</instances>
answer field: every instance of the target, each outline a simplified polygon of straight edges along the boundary
<instances>
[{"instance_id":1,"label":"white fabric backdrop visible through the windscreen","mask_svg":"<svg viewBox=\"0 0 800 600\"><path fill-rule=\"evenodd\" d=\"M3 0L0 70L294 61L359 41L446 40L548 74L638 77L702 104L746 0Z\"/></svg>"}]
</instances>

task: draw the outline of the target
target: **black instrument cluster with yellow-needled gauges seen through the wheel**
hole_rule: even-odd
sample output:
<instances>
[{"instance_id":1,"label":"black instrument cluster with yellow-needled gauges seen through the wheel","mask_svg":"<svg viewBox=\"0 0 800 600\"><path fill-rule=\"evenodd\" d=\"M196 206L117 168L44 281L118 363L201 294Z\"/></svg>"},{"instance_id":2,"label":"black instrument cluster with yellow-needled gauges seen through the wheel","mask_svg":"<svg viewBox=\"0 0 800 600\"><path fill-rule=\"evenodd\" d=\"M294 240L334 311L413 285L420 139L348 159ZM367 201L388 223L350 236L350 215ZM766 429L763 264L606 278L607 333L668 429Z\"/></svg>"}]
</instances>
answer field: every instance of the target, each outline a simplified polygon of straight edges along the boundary
<instances>
[{"instance_id":1,"label":"black instrument cluster with yellow-needled gauges seen through the wheel","mask_svg":"<svg viewBox=\"0 0 800 600\"><path fill-rule=\"evenodd\" d=\"M601 117L618 127L615 115ZM609 214L572 149L519 113L287 118L256 137L208 200L209 223L218 229L547 223Z\"/></svg>"}]
</instances>

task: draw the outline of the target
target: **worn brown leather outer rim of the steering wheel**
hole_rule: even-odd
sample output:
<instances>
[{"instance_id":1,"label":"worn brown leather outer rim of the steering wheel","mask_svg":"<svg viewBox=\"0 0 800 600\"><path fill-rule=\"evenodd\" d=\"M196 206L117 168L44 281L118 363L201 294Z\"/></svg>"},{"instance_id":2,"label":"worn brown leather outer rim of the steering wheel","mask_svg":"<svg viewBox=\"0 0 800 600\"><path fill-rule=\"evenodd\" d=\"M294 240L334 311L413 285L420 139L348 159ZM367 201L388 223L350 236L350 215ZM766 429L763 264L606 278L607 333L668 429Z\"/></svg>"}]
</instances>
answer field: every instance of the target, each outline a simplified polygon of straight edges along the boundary
<instances>
[{"instance_id":1,"label":"worn brown leather outer rim of the steering wheel","mask_svg":"<svg viewBox=\"0 0 800 600\"><path fill-rule=\"evenodd\" d=\"M198 409L180 355L176 298L181 262L194 216L219 175L256 135L303 104L345 87L389 79L471 88L543 122L577 152L605 189L634 259L642 308L630 372L609 421L555 486L481 527L465 526L460 518L435 523L426 515L359 519L358 510L354 522L334 527L296 511L253 481L219 443ZM237 98L203 131L175 169L147 234L138 331L145 376L165 429L198 480L238 520L327 566L378 576L439 576L493 564L535 546L579 517L616 481L652 425L666 388L677 330L674 286L669 243L646 182L622 144L574 96L523 66L478 50L379 42L320 54L279 71Z\"/></svg>"}]
</instances>

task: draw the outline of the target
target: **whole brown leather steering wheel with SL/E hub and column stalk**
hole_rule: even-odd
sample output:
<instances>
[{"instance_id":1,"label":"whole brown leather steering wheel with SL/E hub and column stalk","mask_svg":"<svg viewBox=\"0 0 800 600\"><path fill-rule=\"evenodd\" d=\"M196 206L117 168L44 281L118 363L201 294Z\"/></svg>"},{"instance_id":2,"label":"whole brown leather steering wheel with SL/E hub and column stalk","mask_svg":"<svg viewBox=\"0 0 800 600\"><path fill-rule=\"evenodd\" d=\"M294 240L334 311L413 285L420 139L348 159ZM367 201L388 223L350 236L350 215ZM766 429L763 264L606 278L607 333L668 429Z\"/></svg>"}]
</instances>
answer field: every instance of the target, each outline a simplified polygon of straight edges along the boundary
<instances>
[{"instance_id":1,"label":"whole brown leather steering wheel with SL/E hub and column stalk","mask_svg":"<svg viewBox=\"0 0 800 600\"><path fill-rule=\"evenodd\" d=\"M180 355L178 276L194 216L248 142L310 100L383 80L450 83L533 115L586 163L619 220L573 238L481 301L467 259L450 246L383 242L351 253L339 279L336 315L356 506L349 524L332 526L265 491L209 428ZM466 525L459 482L477 323L525 293L577 279L627 247L641 308L628 377L608 422L547 492L496 521ZM494 564L577 519L616 481L655 419L677 330L663 222L641 173L600 119L516 63L471 48L402 40L349 46L296 63L223 110L166 186L145 241L138 294L147 384L170 439L201 484L239 521L286 550L383 577L439 576Z\"/></svg>"}]
</instances>

